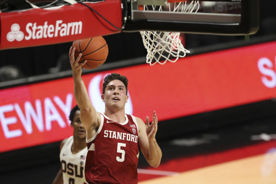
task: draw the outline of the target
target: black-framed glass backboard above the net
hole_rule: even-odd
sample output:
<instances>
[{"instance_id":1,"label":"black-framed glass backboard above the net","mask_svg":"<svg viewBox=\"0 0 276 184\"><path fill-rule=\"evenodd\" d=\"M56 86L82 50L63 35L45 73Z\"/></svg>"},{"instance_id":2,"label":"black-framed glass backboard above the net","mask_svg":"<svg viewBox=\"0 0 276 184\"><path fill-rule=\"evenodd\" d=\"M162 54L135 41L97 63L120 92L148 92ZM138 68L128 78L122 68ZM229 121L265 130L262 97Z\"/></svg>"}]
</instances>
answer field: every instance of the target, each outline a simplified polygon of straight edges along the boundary
<instances>
[{"instance_id":1,"label":"black-framed glass backboard above the net","mask_svg":"<svg viewBox=\"0 0 276 184\"><path fill-rule=\"evenodd\" d=\"M130 0L128 10L124 32L249 35L259 28L259 0Z\"/></svg>"}]
</instances>

